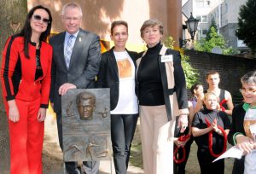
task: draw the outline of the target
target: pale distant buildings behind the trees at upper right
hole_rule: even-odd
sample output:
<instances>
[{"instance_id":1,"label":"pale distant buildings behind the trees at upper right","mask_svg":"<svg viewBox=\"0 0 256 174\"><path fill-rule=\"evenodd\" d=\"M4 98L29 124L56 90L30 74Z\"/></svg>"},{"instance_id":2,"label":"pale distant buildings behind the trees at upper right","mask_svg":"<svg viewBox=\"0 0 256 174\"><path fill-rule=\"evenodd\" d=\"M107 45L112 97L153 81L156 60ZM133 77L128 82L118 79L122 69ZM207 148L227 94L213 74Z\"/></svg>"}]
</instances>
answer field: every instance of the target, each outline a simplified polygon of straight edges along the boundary
<instances>
[{"instance_id":1,"label":"pale distant buildings behind the trees at upper right","mask_svg":"<svg viewBox=\"0 0 256 174\"><path fill-rule=\"evenodd\" d=\"M247 50L246 44L236 37L239 10L247 0L183 0L183 14L190 10L199 20L196 39L205 38L212 20L229 47L240 52Z\"/></svg>"}]
</instances>

